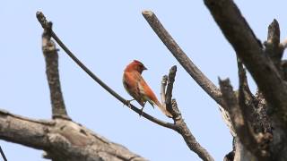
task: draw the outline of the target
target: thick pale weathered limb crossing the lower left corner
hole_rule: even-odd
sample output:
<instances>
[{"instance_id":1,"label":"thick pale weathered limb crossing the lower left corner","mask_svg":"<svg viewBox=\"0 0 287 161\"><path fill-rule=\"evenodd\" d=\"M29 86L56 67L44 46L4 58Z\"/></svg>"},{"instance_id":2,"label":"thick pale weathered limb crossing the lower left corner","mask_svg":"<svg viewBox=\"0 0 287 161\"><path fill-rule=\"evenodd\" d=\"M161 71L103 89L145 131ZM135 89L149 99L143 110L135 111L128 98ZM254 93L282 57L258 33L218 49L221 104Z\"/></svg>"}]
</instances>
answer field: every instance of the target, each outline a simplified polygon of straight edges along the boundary
<instances>
[{"instance_id":1,"label":"thick pale weathered limb crossing the lower left corner","mask_svg":"<svg viewBox=\"0 0 287 161\"><path fill-rule=\"evenodd\" d=\"M0 111L0 139L43 149L53 160L146 160L69 120L34 121Z\"/></svg>"}]
</instances>

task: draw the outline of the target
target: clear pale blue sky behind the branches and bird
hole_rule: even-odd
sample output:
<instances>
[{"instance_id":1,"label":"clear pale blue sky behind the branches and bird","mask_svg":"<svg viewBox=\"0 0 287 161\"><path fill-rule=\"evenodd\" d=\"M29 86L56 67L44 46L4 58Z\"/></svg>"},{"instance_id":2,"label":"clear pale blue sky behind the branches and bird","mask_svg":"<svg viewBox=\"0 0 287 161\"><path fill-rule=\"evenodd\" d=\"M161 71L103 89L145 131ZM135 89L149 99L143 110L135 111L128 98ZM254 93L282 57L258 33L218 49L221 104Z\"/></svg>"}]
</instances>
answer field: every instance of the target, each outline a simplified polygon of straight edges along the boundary
<instances>
[{"instance_id":1,"label":"clear pale blue sky behind the branches and bird","mask_svg":"<svg viewBox=\"0 0 287 161\"><path fill-rule=\"evenodd\" d=\"M276 18L287 34L286 0L239 1L257 37L265 40ZM230 77L237 89L234 52L222 36L202 0L198 1L2 1L0 54L0 108L31 118L51 117L48 82L41 53L42 29L35 17L42 11L67 47L100 79L130 99L122 86L122 73L138 59L149 69L143 77L157 96L161 76L178 65L174 94L196 140L215 160L231 150L231 136L216 103L178 64L161 43L142 11L152 10L193 62L218 85ZM68 114L77 123L152 161L200 160L177 132L139 117L109 95L60 49L59 70ZM255 89L254 84L252 89ZM134 103L135 104L135 103ZM135 104L137 105L137 104ZM137 105L138 106L138 105ZM145 112L170 121L151 106ZM23 131L25 132L25 131ZM0 141L8 160L46 160L42 151ZM1 159L0 159L1 160Z\"/></svg>"}]
</instances>

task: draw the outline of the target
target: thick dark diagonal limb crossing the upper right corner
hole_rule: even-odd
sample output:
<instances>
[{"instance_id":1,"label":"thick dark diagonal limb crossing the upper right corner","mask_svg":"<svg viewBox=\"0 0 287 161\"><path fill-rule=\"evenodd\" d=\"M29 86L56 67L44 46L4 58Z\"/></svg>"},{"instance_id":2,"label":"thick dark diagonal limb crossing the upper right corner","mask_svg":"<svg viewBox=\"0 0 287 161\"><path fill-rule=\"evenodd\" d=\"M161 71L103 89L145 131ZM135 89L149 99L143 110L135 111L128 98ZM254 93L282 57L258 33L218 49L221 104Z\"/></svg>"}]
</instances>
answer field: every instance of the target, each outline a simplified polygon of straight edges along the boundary
<instances>
[{"instance_id":1,"label":"thick dark diagonal limb crossing the upper right corner","mask_svg":"<svg viewBox=\"0 0 287 161\"><path fill-rule=\"evenodd\" d=\"M239 8L232 0L204 0L204 3L225 38L230 41L231 46L257 82L266 101L274 108L275 118L279 119L283 129L286 129L286 84L271 59L264 54L261 43L239 12Z\"/></svg>"}]
</instances>

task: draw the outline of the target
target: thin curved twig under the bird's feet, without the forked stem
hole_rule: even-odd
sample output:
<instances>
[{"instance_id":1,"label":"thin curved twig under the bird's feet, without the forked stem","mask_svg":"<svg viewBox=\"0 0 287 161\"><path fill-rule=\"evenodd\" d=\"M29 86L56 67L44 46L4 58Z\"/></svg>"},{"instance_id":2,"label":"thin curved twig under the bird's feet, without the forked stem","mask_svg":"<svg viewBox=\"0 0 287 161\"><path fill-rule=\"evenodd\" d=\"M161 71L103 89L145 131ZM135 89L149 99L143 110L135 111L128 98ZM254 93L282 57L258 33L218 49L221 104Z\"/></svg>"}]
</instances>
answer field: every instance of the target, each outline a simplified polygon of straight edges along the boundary
<instances>
[{"instance_id":1,"label":"thin curved twig under the bird's feet, without the forked stem","mask_svg":"<svg viewBox=\"0 0 287 161\"><path fill-rule=\"evenodd\" d=\"M46 20L45 15L41 12L37 12L36 15L39 23L42 25L44 29L46 29L48 27L48 21ZM83 71L86 72L91 77L92 80L95 80L97 83L99 83L103 89L106 89L109 92L109 94L111 94L113 97L116 97L117 100L122 102L124 105L130 107L133 111L135 111L135 113L142 114L144 118L150 120L151 122L157 123L166 128L170 128L173 130L175 129L174 124L161 121L150 114L142 112L139 108L130 104L124 97L119 96L116 91L110 89L106 83L100 80L100 78L98 78L93 72L91 72L67 47L65 47L65 44L60 40L60 38L57 37L56 33L53 30L51 30L51 37L55 39L57 44L64 49L65 53L69 55L74 60L74 62L78 64L83 69Z\"/></svg>"}]
</instances>

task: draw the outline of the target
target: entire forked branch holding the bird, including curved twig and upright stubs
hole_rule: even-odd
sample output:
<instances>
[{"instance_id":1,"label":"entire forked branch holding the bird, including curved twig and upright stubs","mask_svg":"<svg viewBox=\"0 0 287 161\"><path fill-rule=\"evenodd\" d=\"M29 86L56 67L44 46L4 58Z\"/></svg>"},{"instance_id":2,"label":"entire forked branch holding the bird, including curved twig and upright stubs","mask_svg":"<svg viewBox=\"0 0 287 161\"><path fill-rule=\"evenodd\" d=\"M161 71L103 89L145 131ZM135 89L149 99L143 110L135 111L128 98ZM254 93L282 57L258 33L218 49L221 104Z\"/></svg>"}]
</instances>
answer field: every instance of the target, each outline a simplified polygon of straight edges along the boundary
<instances>
[{"instance_id":1,"label":"entire forked branch holding the bird, including curved twig and upright stubs","mask_svg":"<svg viewBox=\"0 0 287 161\"><path fill-rule=\"evenodd\" d=\"M174 131L178 131L178 133L181 134L182 137L184 138L184 140L187 142L187 146L191 150L196 152L196 154L199 157L201 157L204 161L212 161L213 160L213 157L211 157L209 155L209 153L204 148L202 148L200 146L200 144L196 141L195 137L192 135L191 131L189 131L189 129L187 128L187 124L184 122L184 120L183 120L183 118L182 118L182 116L178 110L178 105L177 105L175 99L171 100L173 82L175 80L175 76L176 76L176 72L177 72L176 66L173 66L170 69L167 93L165 93L165 86L167 85L166 80L162 80L162 82L163 82L162 84L165 84L165 85L161 89L161 92L163 92L163 93L161 93L161 98L163 98L163 100L165 102L167 101L167 106L170 106L169 109L170 109L171 114L173 114L173 119L174 119L174 123L166 123L166 122L163 122L157 118L152 117L152 115L150 115L150 114L146 114L146 113L142 112L139 108L129 104L129 102L125 98L119 96L113 89L110 89L107 84L105 84L95 74L93 74L80 60L78 60L74 56L74 54L67 47L65 47L64 43L62 43L62 41L59 38L57 38L57 35L54 33L53 30L48 28L48 21L46 20L43 13L38 12L37 18L38 18L39 22L41 23L42 27L45 30L49 30L50 36L52 38L54 38L57 41L58 45L65 50L66 54L69 55L74 60L74 62L76 64L78 64L83 69L83 71L87 72L93 80L98 82L103 89L106 89L112 96L116 97L124 105L129 106L132 110L135 111L135 113L142 114L144 118L152 121L153 123L157 123L163 127L170 128ZM164 97L167 97L167 99L165 99Z\"/></svg>"}]
</instances>

